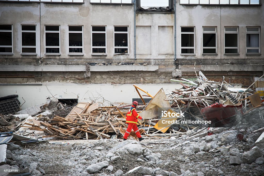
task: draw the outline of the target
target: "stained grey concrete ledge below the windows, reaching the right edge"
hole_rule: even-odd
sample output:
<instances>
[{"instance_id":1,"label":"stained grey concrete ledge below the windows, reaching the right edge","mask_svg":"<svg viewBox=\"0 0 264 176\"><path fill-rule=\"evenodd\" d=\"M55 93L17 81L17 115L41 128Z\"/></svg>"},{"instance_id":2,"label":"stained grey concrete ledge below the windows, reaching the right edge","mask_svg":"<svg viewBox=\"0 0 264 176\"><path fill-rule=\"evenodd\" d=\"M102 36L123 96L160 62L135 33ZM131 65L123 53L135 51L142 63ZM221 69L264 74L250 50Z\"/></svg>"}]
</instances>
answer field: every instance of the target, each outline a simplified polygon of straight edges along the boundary
<instances>
[{"instance_id":1,"label":"stained grey concrete ledge below the windows, reaching the right edge","mask_svg":"<svg viewBox=\"0 0 264 176\"><path fill-rule=\"evenodd\" d=\"M205 65L203 71L263 71L262 65Z\"/></svg>"}]
</instances>

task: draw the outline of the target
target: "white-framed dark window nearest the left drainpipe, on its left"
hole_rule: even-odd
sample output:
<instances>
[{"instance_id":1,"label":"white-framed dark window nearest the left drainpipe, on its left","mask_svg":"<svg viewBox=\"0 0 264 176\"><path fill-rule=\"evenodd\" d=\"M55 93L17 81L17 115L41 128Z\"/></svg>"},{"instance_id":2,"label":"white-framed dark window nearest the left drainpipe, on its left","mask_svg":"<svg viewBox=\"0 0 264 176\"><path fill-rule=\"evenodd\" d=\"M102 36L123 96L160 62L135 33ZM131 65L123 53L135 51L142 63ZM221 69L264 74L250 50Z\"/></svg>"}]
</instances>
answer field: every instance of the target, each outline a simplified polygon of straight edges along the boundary
<instances>
[{"instance_id":1,"label":"white-framed dark window nearest the left drainpipe, on its left","mask_svg":"<svg viewBox=\"0 0 264 176\"><path fill-rule=\"evenodd\" d=\"M128 26L115 26L115 53L128 53Z\"/></svg>"}]
</instances>

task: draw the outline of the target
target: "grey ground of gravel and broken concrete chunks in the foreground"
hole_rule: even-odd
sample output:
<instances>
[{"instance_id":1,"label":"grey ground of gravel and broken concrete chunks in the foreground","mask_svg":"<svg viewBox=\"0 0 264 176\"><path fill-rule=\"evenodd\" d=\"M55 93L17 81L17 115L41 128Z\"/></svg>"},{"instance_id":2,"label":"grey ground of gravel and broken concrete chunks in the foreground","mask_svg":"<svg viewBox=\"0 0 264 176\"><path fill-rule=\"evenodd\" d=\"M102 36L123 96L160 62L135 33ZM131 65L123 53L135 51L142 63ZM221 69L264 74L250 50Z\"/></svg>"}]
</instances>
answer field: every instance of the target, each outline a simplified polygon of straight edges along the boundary
<instances>
[{"instance_id":1,"label":"grey ground of gravel and broken concrete chunks in the foreground","mask_svg":"<svg viewBox=\"0 0 264 176\"><path fill-rule=\"evenodd\" d=\"M215 151L194 151L190 146L180 145L170 139L119 139L59 140L26 146L29 153L38 157L35 170L43 169L39 175L86 176L86 175L163 175L163 176L260 176L264 165L259 163L230 165L230 152L225 150L218 156ZM188 148L190 147L190 148ZM247 143L239 142L235 149L250 150ZM239 153L240 153L239 152ZM30 155L30 154L29 154ZM260 156L262 154L260 153ZM140 167L142 166L142 167ZM129 170L135 171L129 172ZM31 168L32 169L32 168ZM32 174L34 175L34 174ZM37 175L37 174L36 174Z\"/></svg>"}]
</instances>

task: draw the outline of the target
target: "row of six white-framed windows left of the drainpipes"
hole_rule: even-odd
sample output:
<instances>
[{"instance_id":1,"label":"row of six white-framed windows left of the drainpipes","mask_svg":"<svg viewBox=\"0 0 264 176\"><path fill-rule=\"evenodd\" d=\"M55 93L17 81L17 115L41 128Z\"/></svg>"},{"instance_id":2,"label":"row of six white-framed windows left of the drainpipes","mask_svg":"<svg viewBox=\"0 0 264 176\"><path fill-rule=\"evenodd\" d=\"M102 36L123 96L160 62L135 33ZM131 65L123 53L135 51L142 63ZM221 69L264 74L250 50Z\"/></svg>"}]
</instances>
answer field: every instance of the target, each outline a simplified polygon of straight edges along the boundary
<instances>
[{"instance_id":1,"label":"row of six white-framed windows left of the drainpipes","mask_svg":"<svg viewBox=\"0 0 264 176\"><path fill-rule=\"evenodd\" d=\"M13 53L13 26L0 25L0 54ZM83 54L83 26L68 26L69 54ZM60 26L45 26L45 54L60 54ZM106 54L106 26L92 26L92 54ZM21 25L21 53L36 54L36 25ZM128 53L128 26L114 26L114 52Z\"/></svg>"}]
</instances>

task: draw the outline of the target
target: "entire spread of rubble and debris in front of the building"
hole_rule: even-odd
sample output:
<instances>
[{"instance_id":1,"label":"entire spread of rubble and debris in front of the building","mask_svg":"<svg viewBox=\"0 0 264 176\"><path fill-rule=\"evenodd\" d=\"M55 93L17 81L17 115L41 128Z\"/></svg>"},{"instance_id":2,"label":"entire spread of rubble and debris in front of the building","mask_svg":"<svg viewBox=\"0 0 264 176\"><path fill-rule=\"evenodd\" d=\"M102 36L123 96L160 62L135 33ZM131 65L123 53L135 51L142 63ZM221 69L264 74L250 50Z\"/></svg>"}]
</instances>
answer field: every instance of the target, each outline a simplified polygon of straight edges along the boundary
<instances>
[{"instance_id":1,"label":"entire spread of rubble and debris in front of the building","mask_svg":"<svg viewBox=\"0 0 264 176\"><path fill-rule=\"evenodd\" d=\"M5 132L0 133L5 164L0 169L19 168L37 176L263 174L264 106L263 97L250 89L254 83L235 88L224 78L210 81L202 72L196 79L173 81L182 88L161 88L154 96L134 85L142 100L137 112L143 117L138 128L146 131L143 142L121 141L119 129L127 128L131 104L79 102L70 107L53 98L21 114L0 115L0 131ZM168 119L177 123L162 124Z\"/></svg>"}]
</instances>

